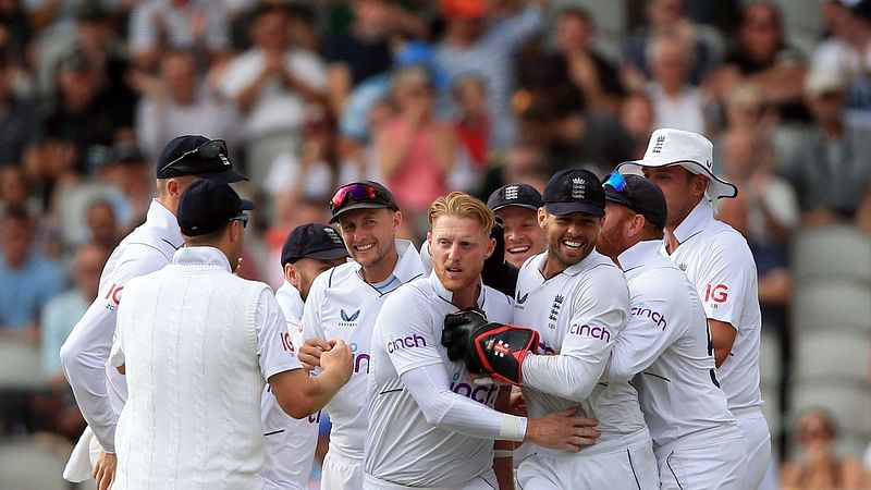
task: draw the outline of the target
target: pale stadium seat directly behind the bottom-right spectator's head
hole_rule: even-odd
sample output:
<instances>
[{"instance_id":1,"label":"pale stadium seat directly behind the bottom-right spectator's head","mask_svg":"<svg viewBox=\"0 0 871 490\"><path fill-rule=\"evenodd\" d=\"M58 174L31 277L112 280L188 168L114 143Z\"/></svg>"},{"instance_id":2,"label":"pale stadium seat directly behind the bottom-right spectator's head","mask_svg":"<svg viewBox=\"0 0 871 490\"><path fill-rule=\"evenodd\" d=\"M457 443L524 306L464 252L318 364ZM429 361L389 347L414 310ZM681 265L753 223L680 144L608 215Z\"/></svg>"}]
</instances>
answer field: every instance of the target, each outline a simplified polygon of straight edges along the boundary
<instances>
[{"instance_id":1,"label":"pale stadium seat directly behind the bottom-right spectator's head","mask_svg":"<svg viewBox=\"0 0 871 490\"><path fill-rule=\"evenodd\" d=\"M822 407L834 415L842 434L866 441L871 438L871 389L868 384L794 383L792 400L792 419L797 419L808 408Z\"/></svg>"}]
</instances>

